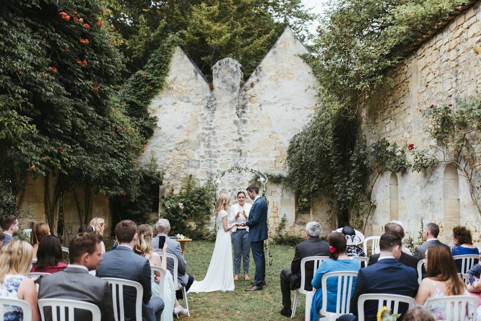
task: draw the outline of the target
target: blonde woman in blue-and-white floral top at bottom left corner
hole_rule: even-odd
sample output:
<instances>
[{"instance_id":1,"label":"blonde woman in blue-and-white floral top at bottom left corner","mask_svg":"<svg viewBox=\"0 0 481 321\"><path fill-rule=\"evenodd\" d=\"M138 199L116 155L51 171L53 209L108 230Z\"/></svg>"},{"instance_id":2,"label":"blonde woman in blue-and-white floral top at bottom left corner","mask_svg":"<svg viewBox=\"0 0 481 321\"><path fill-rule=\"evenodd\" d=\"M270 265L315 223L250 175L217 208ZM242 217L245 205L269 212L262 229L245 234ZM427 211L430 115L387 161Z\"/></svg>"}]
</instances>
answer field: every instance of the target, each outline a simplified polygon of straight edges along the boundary
<instances>
[{"instance_id":1,"label":"blonde woman in blue-and-white floral top at bottom left corner","mask_svg":"<svg viewBox=\"0 0 481 321\"><path fill-rule=\"evenodd\" d=\"M40 320L37 308L37 288L28 277L32 262L32 246L21 240L12 240L0 250L0 297L21 299L32 307L32 320ZM6 321L24 319L22 309L5 305L3 317Z\"/></svg>"}]
</instances>

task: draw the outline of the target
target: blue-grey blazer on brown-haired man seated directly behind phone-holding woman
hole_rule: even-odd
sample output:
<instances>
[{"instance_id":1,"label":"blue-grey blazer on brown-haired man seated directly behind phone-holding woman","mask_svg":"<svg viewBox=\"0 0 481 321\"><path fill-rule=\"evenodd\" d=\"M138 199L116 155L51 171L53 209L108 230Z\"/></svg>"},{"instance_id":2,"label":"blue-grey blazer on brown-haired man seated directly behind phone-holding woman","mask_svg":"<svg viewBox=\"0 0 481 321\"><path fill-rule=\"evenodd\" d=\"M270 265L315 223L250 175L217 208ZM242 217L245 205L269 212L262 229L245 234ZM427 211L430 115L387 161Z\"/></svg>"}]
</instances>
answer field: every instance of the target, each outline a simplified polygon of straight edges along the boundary
<instances>
[{"instance_id":1,"label":"blue-grey blazer on brown-haired man seated directly behind phone-holding woman","mask_svg":"<svg viewBox=\"0 0 481 321\"><path fill-rule=\"evenodd\" d=\"M139 282L144 290L142 309L149 302L151 292L150 283L150 263L145 257L142 257L126 246L119 245L115 250L103 254L103 260L100 261L97 270L98 277L116 277L125 280ZM135 320L135 298L137 292L134 288L124 288L124 309L125 320Z\"/></svg>"}]
</instances>

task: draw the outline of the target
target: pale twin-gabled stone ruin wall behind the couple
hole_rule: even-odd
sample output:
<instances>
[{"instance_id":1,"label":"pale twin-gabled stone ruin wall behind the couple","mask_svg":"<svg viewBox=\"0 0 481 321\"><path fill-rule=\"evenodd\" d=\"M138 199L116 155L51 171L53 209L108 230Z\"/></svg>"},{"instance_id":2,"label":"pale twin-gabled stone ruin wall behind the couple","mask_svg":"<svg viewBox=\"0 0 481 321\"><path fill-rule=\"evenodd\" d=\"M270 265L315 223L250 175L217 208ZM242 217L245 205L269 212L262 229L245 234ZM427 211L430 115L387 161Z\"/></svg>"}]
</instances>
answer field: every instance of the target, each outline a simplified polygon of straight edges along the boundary
<instances>
[{"instance_id":1,"label":"pale twin-gabled stone ruin wall behind the couple","mask_svg":"<svg viewBox=\"0 0 481 321\"><path fill-rule=\"evenodd\" d=\"M236 61L218 61L210 90L196 66L176 48L164 89L150 104L157 128L141 157L141 163L148 164L154 156L165 171L162 190L178 192L188 176L206 183L236 165L268 176L285 173L289 141L318 104L317 80L300 57L305 53L287 28L245 83ZM237 191L245 191L252 179L251 173L226 174L219 191L234 202ZM311 213L296 216L291 189L268 183L267 198L271 232L284 215L291 233L303 235L310 220L321 222L325 233L332 229L327 202L318 201Z\"/></svg>"}]
</instances>

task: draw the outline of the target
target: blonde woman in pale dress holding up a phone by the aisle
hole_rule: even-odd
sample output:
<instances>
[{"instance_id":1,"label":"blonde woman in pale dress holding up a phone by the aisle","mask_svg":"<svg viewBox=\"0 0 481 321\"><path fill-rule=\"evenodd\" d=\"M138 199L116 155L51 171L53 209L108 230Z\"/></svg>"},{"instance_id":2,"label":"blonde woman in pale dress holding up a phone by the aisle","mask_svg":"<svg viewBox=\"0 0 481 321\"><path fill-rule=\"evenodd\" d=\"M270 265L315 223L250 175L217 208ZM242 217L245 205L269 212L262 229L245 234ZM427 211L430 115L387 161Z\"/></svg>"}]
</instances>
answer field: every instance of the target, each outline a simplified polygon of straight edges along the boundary
<instances>
[{"instance_id":1,"label":"blonde woman in pale dress holding up a phone by the aisle","mask_svg":"<svg viewBox=\"0 0 481 321\"><path fill-rule=\"evenodd\" d=\"M160 266L165 272L164 279L164 296L162 297L164 301L164 309L161 315L161 321L172 321L172 314L178 315L179 312L183 312L183 309L174 309L174 306L180 306L179 302L175 298L174 281L172 274L167 270L167 242L164 243L162 248L162 259L160 259L159 254L157 254L152 247L152 238L154 237L152 228L147 224L142 224L137 227L137 244L135 245L134 251L149 260L150 265ZM152 296L160 297L160 274L159 272L152 272L151 283L152 283ZM187 310L184 311L185 313ZM178 318L178 316L177 316Z\"/></svg>"}]
</instances>

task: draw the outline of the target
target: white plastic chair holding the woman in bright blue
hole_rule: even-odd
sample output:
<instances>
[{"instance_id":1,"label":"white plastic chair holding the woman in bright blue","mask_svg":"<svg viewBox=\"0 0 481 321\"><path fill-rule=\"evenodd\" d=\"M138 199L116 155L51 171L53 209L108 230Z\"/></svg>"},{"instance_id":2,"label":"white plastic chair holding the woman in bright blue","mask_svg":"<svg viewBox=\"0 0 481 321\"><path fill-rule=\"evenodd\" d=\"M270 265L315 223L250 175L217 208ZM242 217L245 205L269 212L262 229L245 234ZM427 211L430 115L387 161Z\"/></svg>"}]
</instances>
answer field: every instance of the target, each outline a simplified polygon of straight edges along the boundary
<instances>
[{"instance_id":1,"label":"white plastic chair holding the woman in bright blue","mask_svg":"<svg viewBox=\"0 0 481 321\"><path fill-rule=\"evenodd\" d=\"M336 311L329 312L327 310L327 279L330 277L337 277L337 298ZM338 271L326 273L322 276L322 307L320 314L324 315L328 321L334 321L343 314L349 314L351 307L352 287L354 278L357 277L357 272L352 271Z\"/></svg>"}]
</instances>

